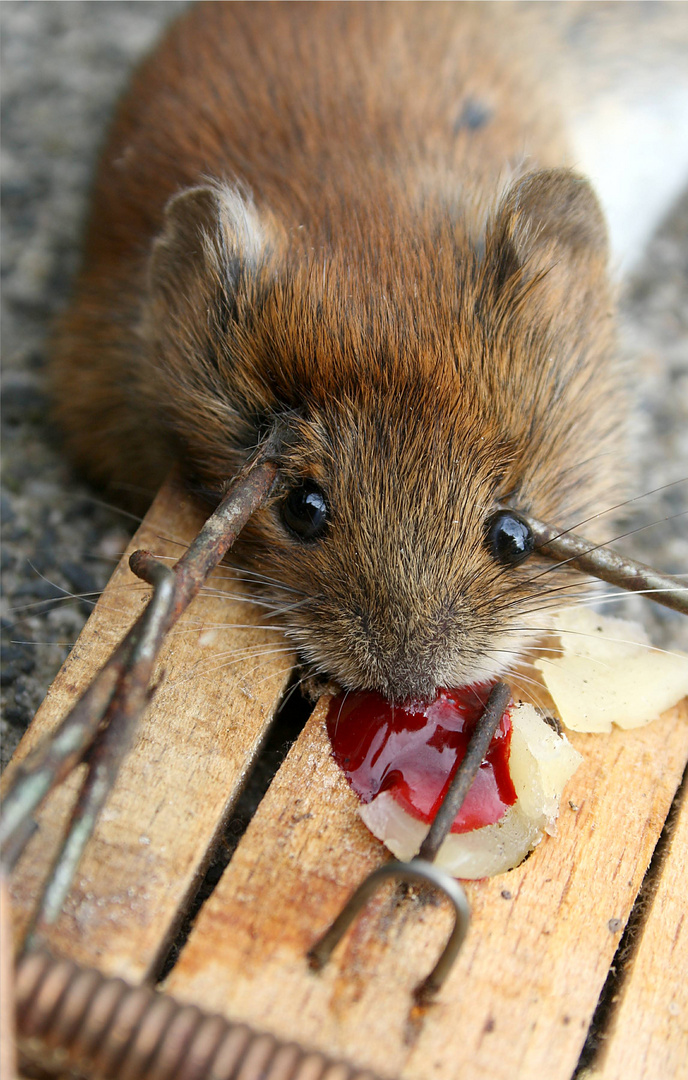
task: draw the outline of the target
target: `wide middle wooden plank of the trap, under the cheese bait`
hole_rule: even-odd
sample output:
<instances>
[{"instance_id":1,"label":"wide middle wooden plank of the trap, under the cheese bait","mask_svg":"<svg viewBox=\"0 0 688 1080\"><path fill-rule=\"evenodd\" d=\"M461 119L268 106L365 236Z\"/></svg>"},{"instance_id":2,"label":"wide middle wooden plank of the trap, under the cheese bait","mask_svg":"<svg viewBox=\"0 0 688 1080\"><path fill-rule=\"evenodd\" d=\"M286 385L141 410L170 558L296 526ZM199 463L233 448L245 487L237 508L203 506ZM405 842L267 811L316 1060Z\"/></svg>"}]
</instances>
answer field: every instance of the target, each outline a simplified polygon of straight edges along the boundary
<instances>
[{"instance_id":1,"label":"wide middle wooden plank of the trap, under the cheese bait","mask_svg":"<svg viewBox=\"0 0 688 1080\"><path fill-rule=\"evenodd\" d=\"M306 964L387 858L329 755L325 708L292 747L167 988L383 1076L569 1080L688 758L686 703L647 728L572 740L585 760L558 837L469 883L469 936L426 1010L409 994L450 924L432 896L380 895L323 973Z\"/></svg>"}]
</instances>

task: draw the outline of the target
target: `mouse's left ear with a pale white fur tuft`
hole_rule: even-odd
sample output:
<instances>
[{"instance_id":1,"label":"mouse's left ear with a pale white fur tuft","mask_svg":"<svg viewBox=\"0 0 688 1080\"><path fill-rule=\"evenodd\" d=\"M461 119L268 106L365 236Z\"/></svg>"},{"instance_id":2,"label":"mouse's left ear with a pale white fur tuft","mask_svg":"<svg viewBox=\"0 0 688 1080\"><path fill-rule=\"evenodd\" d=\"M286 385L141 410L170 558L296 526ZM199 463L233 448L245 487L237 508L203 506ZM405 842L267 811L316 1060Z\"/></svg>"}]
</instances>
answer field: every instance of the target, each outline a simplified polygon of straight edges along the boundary
<instances>
[{"instance_id":1,"label":"mouse's left ear with a pale white fur tuft","mask_svg":"<svg viewBox=\"0 0 688 1080\"><path fill-rule=\"evenodd\" d=\"M224 308L267 249L249 195L229 185L189 188L170 200L153 244L149 289L158 315L186 320L215 296ZM201 309L203 310L203 309Z\"/></svg>"}]
</instances>

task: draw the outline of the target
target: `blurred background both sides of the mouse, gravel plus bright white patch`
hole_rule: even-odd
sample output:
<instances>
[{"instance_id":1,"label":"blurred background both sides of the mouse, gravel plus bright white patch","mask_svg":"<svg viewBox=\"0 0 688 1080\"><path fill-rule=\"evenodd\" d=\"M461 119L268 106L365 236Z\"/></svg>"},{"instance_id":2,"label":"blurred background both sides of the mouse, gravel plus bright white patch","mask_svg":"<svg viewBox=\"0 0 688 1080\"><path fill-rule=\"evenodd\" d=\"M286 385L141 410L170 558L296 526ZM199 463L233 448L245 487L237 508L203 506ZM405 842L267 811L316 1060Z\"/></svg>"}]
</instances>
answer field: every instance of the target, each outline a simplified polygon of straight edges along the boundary
<instances>
[{"instance_id":1,"label":"blurred background both sides of the mouse, gravel plus bright white patch","mask_svg":"<svg viewBox=\"0 0 688 1080\"><path fill-rule=\"evenodd\" d=\"M60 456L46 362L114 103L184 6L0 4L2 765L136 525ZM639 496L688 476L688 4L517 6L524 33L541 38L543 78L558 87L577 163L610 218L621 348L638 403L630 494ZM686 510L687 489L675 484L631 503L609 536L642 529L620 550L686 572L688 519L675 515ZM656 644L688 650L688 620L637 598L625 607Z\"/></svg>"}]
</instances>

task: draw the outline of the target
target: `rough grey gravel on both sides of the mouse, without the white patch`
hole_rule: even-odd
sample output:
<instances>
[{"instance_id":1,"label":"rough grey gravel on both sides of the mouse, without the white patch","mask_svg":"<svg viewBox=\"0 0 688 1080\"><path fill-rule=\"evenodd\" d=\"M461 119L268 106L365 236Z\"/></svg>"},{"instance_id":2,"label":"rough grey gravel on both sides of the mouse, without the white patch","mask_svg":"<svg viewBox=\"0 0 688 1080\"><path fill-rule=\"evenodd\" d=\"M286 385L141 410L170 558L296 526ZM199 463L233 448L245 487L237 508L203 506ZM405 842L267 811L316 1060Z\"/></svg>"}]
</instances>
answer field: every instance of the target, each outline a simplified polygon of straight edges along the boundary
<instances>
[{"instance_id":1,"label":"rough grey gravel on both sides of the mouse, without the white patch","mask_svg":"<svg viewBox=\"0 0 688 1080\"><path fill-rule=\"evenodd\" d=\"M133 63L181 6L162 0L0 6L3 765L132 530L60 457L50 423L48 337L77 267L90 177L113 103ZM623 349L639 360L639 494L688 474L688 191L626 283L622 315ZM618 531L680 513L682 492L675 486L634 503ZM686 519L636 532L624 549L684 570ZM688 648L679 617L646 612L647 606L644 618L658 643Z\"/></svg>"}]
</instances>

